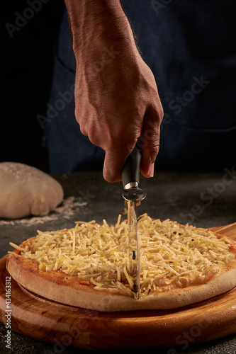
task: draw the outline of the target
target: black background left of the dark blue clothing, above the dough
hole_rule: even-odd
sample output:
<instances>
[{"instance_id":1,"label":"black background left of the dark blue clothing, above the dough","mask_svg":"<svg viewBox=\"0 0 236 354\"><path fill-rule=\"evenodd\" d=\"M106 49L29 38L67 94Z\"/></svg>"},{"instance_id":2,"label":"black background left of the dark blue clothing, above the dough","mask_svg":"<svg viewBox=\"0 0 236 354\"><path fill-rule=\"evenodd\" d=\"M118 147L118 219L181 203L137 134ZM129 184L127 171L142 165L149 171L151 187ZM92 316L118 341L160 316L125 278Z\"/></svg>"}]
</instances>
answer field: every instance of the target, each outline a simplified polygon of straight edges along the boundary
<instances>
[{"instance_id":1,"label":"black background left of the dark blue clothing, above the dough","mask_svg":"<svg viewBox=\"0 0 236 354\"><path fill-rule=\"evenodd\" d=\"M4 1L1 9L1 130L0 162L14 161L49 171L43 128L50 97L53 50L64 10L63 0ZM26 11L30 3L40 10ZM16 25L18 14L29 16L12 38L6 23ZM24 20L23 20L24 21ZM17 26L18 27L18 26ZM19 28L19 27L18 27Z\"/></svg>"}]
</instances>

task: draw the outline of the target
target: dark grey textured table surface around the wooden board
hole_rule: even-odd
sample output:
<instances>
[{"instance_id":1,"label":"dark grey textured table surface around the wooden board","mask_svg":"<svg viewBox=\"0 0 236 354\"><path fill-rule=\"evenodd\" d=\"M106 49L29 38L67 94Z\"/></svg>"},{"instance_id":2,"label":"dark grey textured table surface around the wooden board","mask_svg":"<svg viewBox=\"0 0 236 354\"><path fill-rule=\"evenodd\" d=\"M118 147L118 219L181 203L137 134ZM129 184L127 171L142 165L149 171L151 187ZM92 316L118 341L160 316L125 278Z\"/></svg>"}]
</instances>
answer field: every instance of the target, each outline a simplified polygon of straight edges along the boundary
<instances>
[{"instance_id":1,"label":"dark grey textured table surface around the wooden board","mask_svg":"<svg viewBox=\"0 0 236 354\"><path fill-rule=\"evenodd\" d=\"M74 221L115 224L123 212L121 183L106 183L101 172L67 173L54 175L64 188L64 201L55 212L45 217L25 219L0 219L0 257L11 251L9 241L21 244L35 236L37 230L46 231L73 227ZM154 178L141 177L140 184L147 198L138 207L138 214L147 212L151 217L173 219L182 224L197 227L216 227L236 221L236 173L228 167L215 173L156 171ZM125 216L123 216L124 218ZM236 305L236 304L235 304ZM11 331L11 349L6 348L6 328L0 323L1 353L78 353L87 350L59 348L50 343L37 341ZM120 338L122 341L122 338ZM143 350L142 350L143 352ZM236 352L236 334L217 341L185 346L169 350L153 349L148 353L198 353L222 354ZM137 353L137 350L136 352Z\"/></svg>"}]
</instances>

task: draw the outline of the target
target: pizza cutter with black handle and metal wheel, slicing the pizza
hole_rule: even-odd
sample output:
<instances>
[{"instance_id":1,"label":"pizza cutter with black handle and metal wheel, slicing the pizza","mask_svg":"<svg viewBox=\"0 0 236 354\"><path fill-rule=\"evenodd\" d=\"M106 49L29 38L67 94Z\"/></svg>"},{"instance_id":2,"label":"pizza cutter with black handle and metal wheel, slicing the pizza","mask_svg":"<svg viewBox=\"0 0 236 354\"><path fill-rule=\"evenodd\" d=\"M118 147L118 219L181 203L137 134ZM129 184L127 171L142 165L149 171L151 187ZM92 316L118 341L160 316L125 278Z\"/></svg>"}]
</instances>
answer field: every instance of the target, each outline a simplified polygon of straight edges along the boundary
<instances>
[{"instance_id":1,"label":"pizza cutter with black handle and metal wheel, slicing the pizza","mask_svg":"<svg viewBox=\"0 0 236 354\"><path fill-rule=\"evenodd\" d=\"M133 278L133 291L140 297L140 242L137 228L137 209L141 200L146 196L140 188L141 150L135 146L126 159L121 171L123 183L123 198L128 205L128 273Z\"/></svg>"}]
</instances>

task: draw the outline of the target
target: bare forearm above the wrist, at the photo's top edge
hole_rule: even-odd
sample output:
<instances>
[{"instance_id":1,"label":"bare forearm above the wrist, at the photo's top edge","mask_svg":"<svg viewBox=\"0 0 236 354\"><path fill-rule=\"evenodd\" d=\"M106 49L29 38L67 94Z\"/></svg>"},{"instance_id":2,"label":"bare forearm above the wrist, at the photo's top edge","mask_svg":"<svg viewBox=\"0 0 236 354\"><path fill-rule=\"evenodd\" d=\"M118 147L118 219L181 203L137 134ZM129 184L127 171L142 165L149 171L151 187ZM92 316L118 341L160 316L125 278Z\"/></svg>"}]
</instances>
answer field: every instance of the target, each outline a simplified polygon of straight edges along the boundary
<instances>
[{"instance_id":1,"label":"bare forearm above the wrist, at the photo's top edge","mask_svg":"<svg viewBox=\"0 0 236 354\"><path fill-rule=\"evenodd\" d=\"M119 0L64 0L69 14L75 55L104 43L135 47L135 40ZM78 59L78 58L77 58Z\"/></svg>"}]
</instances>

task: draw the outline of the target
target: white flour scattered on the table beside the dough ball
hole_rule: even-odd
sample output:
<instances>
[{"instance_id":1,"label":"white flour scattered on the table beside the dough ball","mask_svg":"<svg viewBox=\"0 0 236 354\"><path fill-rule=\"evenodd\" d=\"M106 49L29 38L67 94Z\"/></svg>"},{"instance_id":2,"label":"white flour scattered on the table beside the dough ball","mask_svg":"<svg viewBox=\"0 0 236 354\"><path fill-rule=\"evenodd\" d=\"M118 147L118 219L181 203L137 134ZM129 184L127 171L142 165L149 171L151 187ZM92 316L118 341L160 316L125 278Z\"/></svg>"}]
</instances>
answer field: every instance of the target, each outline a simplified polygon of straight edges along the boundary
<instances>
[{"instance_id":1,"label":"white flour scattered on the table beside the dough ball","mask_svg":"<svg viewBox=\"0 0 236 354\"><path fill-rule=\"evenodd\" d=\"M78 214L80 207L85 207L88 203L83 198L76 198L74 196L64 198L62 204L58 206L50 214L41 217L26 217L23 219L0 219L1 225L16 225L24 224L26 226L32 224L43 224L57 219L70 219L74 214Z\"/></svg>"}]
</instances>

